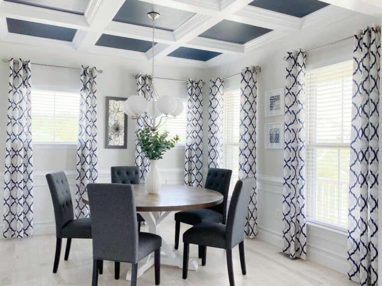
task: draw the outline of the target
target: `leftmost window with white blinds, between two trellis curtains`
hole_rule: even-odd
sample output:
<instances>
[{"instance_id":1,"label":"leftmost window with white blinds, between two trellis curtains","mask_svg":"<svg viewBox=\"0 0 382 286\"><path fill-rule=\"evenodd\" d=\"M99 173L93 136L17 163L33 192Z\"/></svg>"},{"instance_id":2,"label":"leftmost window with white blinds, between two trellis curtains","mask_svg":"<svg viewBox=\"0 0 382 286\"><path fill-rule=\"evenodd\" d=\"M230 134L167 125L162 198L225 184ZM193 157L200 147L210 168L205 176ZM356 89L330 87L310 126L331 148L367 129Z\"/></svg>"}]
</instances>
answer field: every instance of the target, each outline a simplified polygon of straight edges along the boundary
<instances>
[{"instance_id":1,"label":"leftmost window with white blinds, between two trellis curtains","mask_svg":"<svg viewBox=\"0 0 382 286\"><path fill-rule=\"evenodd\" d=\"M80 94L32 89L34 143L77 143Z\"/></svg>"}]
</instances>

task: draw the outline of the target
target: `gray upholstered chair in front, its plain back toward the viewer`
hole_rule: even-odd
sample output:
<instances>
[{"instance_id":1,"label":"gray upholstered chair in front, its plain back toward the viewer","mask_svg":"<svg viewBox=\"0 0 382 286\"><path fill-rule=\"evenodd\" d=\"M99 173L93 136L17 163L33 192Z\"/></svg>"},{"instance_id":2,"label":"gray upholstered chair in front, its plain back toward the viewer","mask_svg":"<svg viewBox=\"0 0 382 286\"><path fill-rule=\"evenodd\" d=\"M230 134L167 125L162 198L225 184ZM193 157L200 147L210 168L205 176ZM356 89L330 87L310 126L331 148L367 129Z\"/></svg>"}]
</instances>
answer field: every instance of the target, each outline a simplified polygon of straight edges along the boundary
<instances>
[{"instance_id":1,"label":"gray upholstered chair in front, its plain back toward the viewer","mask_svg":"<svg viewBox=\"0 0 382 286\"><path fill-rule=\"evenodd\" d=\"M115 263L115 279L120 262L132 264L131 285L137 283L138 262L152 252L155 260L155 284L160 283L162 238L138 232L134 186L125 184L88 184L92 214L93 286L97 285L100 261Z\"/></svg>"}]
</instances>

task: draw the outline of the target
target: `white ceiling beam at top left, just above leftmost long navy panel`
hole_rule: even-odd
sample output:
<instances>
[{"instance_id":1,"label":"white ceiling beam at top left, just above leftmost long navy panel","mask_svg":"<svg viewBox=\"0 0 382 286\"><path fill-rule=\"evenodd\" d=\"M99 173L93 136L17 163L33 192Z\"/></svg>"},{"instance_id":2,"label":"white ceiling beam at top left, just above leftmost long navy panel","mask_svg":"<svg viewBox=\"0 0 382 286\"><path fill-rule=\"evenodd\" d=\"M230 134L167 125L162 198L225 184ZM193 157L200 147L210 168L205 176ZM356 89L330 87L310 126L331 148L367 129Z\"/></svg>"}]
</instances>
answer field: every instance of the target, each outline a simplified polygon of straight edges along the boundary
<instances>
[{"instance_id":1,"label":"white ceiling beam at top left, just above leftmost long navy panel","mask_svg":"<svg viewBox=\"0 0 382 286\"><path fill-rule=\"evenodd\" d=\"M0 1L0 16L72 29L89 29L83 15Z\"/></svg>"}]
</instances>

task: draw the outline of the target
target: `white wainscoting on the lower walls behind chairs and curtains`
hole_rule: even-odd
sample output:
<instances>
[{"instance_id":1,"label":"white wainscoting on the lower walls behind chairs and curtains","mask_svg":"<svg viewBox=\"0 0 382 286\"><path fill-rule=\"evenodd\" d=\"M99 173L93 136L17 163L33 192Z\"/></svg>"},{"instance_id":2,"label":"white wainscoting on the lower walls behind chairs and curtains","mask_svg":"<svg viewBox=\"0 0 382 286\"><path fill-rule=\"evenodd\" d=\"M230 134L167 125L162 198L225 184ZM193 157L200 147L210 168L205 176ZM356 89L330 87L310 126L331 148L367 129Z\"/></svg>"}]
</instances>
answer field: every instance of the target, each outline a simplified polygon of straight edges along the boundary
<instances>
[{"instance_id":1,"label":"white wainscoting on the lower walls behind chairs and curtains","mask_svg":"<svg viewBox=\"0 0 382 286\"><path fill-rule=\"evenodd\" d=\"M183 168L161 169L160 171L165 184L183 184ZM206 172L207 170L203 169L204 177ZM34 174L34 235L55 233L53 206L45 179L47 173L49 172L36 172ZM67 171L66 174L72 198L75 200L76 172ZM110 182L110 171L99 171L97 182ZM3 186L3 175L0 176L0 184ZM2 199L3 192L0 193L1 202ZM282 207L283 178L258 175L259 231L257 238L280 247L280 250L283 247ZM2 204L0 210L2 215ZM2 221L0 231L2 233ZM307 226L308 259L343 274L347 272L346 243L346 233L312 224Z\"/></svg>"}]
</instances>

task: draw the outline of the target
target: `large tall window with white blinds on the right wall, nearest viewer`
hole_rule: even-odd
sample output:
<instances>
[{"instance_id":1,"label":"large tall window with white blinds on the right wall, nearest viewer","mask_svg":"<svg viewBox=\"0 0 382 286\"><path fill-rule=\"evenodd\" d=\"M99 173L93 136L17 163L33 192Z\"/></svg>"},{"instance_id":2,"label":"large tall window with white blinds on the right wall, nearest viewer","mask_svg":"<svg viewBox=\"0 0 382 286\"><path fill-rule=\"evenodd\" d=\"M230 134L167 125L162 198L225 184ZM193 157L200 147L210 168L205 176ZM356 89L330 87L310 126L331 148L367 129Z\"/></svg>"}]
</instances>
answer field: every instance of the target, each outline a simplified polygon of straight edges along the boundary
<instances>
[{"instance_id":1,"label":"large tall window with white blinds on the right wall, nearest viewer","mask_svg":"<svg viewBox=\"0 0 382 286\"><path fill-rule=\"evenodd\" d=\"M352 61L307 72L306 213L347 227Z\"/></svg>"}]
</instances>

